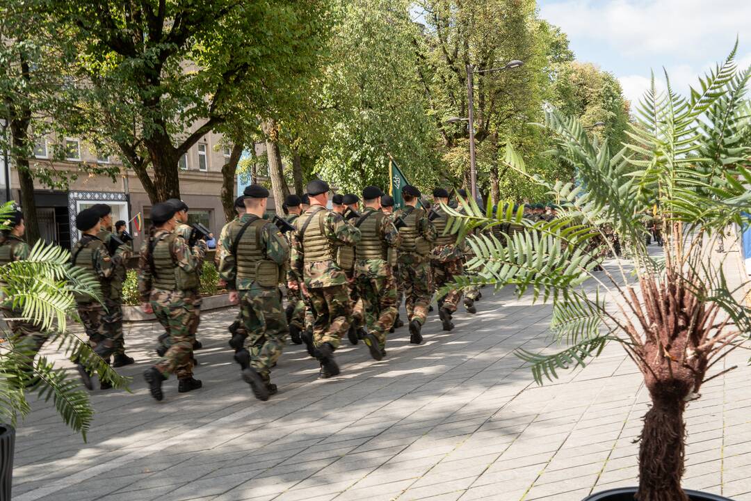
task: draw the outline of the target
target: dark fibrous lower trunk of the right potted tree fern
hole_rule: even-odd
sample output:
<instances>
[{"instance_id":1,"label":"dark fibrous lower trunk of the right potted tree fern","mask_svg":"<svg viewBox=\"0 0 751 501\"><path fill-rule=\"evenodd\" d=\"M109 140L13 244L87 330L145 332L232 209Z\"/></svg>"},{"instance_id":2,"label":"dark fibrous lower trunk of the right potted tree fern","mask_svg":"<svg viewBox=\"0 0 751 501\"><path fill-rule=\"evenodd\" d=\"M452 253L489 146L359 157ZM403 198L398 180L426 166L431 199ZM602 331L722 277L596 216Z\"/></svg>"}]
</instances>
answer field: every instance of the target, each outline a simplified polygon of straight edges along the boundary
<instances>
[{"instance_id":1,"label":"dark fibrous lower trunk of the right potted tree fern","mask_svg":"<svg viewBox=\"0 0 751 501\"><path fill-rule=\"evenodd\" d=\"M684 471L686 403L680 395L652 394L639 445L638 501L689 501L680 487Z\"/></svg>"}]
</instances>

